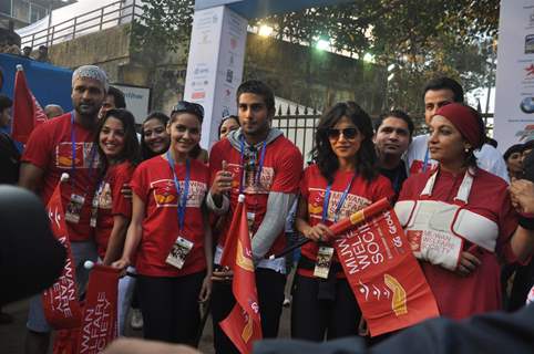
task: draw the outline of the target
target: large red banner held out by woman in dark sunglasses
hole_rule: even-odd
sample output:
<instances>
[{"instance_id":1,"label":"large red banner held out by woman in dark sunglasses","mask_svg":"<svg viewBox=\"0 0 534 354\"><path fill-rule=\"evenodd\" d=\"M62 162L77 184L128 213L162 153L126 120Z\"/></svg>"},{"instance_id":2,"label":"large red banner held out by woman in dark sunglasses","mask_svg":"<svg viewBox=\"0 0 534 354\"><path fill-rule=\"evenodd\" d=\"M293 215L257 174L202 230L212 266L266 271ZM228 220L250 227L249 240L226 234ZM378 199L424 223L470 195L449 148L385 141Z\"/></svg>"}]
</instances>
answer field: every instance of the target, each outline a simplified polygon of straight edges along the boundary
<instances>
[{"instance_id":1,"label":"large red banner held out by woman in dark sunglasses","mask_svg":"<svg viewBox=\"0 0 534 354\"><path fill-rule=\"evenodd\" d=\"M372 336L440 314L397 215L388 204L381 208L335 240Z\"/></svg>"}]
</instances>

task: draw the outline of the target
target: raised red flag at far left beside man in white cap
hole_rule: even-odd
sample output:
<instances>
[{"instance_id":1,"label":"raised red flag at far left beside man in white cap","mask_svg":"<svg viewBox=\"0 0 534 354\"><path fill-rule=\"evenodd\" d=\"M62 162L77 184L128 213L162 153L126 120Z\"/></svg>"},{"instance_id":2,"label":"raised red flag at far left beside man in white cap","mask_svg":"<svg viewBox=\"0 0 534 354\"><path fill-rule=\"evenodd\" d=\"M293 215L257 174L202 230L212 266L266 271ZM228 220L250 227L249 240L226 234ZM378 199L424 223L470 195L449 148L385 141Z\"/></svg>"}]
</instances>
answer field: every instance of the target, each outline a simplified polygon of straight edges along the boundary
<instances>
[{"instance_id":1,"label":"raised red flag at far left beside man in white cap","mask_svg":"<svg viewBox=\"0 0 534 354\"><path fill-rule=\"evenodd\" d=\"M13 93L13 139L27 143L31 132L47 122L47 115L28 87L22 65L17 65Z\"/></svg>"}]
</instances>

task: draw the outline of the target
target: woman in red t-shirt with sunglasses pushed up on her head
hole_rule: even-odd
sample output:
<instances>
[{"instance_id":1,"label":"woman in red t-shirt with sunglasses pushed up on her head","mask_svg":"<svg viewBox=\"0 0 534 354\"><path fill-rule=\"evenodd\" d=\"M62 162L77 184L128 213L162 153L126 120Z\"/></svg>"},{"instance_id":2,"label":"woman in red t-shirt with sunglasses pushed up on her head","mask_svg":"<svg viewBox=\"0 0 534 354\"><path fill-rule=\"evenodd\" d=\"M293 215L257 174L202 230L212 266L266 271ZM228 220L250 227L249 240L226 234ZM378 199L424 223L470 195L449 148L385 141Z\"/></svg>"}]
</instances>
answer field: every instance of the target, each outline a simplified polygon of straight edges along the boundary
<instances>
[{"instance_id":1,"label":"woman in red t-shirt with sunglasses pushed up on her head","mask_svg":"<svg viewBox=\"0 0 534 354\"><path fill-rule=\"evenodd\" d=\"M204 199L208 168L189 158L201 139L204 110L178 102L167 132L168 150L143 162L132 177L133 210L124 269L136 256L144 337L194 345L198 302L209 298L212 232Z\"/></svg>"}]
</instances>

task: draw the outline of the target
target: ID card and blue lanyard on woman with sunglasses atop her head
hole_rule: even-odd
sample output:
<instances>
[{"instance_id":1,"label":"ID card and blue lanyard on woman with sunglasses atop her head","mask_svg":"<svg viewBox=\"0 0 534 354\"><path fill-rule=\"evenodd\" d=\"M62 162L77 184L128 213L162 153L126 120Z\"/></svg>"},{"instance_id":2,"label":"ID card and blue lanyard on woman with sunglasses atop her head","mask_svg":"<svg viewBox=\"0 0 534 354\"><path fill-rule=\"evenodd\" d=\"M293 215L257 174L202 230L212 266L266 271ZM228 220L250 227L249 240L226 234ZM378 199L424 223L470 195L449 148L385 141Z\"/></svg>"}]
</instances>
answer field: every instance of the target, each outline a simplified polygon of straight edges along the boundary
<instances>
[{"instance_id":1,"label":"ID card and blue lanyard on woman with sunglasses atop her head","mask_svg":"<svg viewBox=\"0 0 534 354\"><path fill-rule=\"evenodd\" d=\"M195 246L194 242L187 240L184 236L184 223L185 223L185 210L187 208L187 195L189 192L189 180L191 180L191 162L187 158L185 160L185 180L184 188L179 188L178 177L176 176L176 170L174 168L174 158L171 152L167 150L167 162L171 170L173 173L174 186L176 188L177 196L177 219L178 219L178 237L174 241L171 251L165 260L167 264L182 269L184 267L185 260L189 254L191 250Z\"/></svg>"}]
</instances>

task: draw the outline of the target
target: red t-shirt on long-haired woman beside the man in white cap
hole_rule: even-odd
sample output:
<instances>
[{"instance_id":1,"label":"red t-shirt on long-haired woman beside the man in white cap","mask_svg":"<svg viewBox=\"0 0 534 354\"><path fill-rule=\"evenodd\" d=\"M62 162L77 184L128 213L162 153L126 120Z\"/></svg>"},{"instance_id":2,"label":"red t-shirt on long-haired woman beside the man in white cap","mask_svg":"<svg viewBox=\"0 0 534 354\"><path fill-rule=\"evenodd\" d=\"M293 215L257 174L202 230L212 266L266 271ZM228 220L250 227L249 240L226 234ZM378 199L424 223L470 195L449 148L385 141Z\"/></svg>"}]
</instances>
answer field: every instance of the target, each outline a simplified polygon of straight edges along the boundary
<instances>
[{"instance_id":1,"label":"red t-shirt on long-haired woman beside the man in white cap","mask_svg":"<svg viewBox=\"0 0 534 354\"><path fill-rule=\"evenodd\" d=\"M132 199L125 198L121 189L124 184L130 183L134 170L135 167L130 162L110 166L96 190L95 198L99 201L99 210L94 239L101 259L104 259L107 250L107 242L113 230L113 217L122 215L126 219L132 218Z\"/></svg>"}]
</instances>

